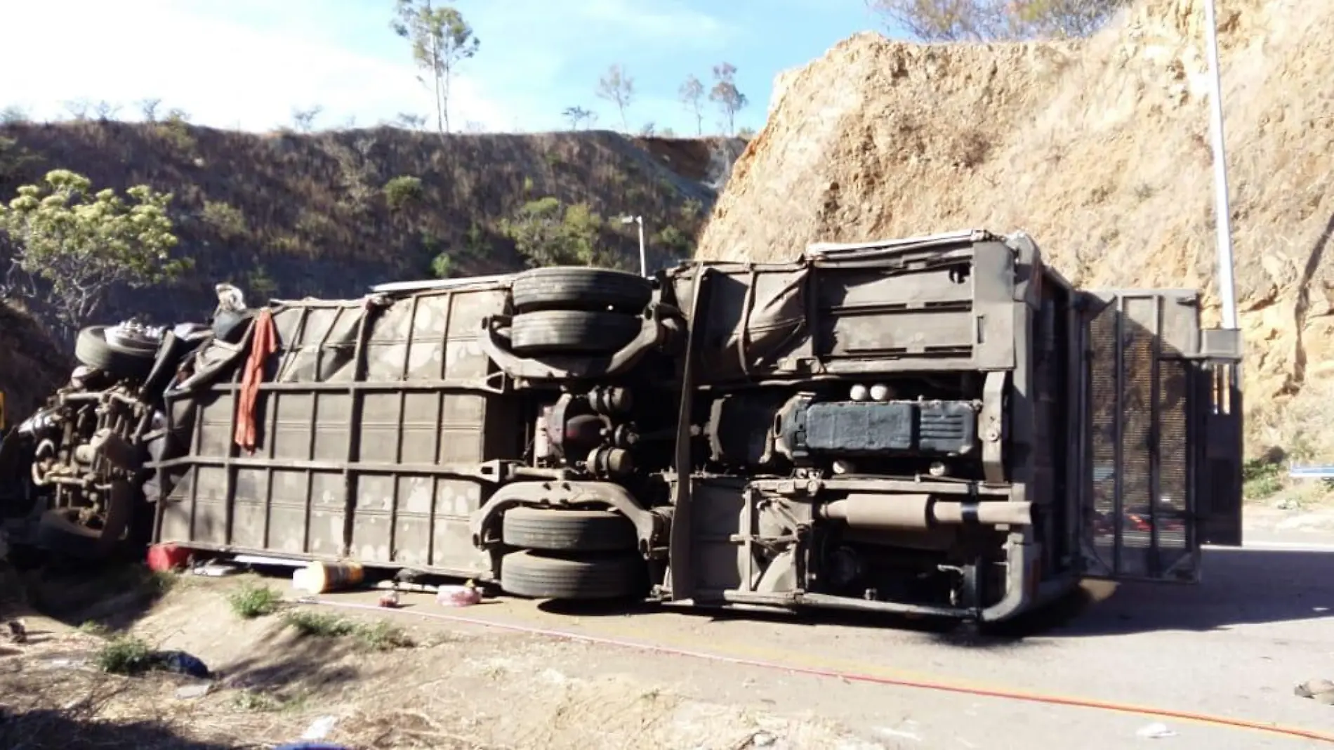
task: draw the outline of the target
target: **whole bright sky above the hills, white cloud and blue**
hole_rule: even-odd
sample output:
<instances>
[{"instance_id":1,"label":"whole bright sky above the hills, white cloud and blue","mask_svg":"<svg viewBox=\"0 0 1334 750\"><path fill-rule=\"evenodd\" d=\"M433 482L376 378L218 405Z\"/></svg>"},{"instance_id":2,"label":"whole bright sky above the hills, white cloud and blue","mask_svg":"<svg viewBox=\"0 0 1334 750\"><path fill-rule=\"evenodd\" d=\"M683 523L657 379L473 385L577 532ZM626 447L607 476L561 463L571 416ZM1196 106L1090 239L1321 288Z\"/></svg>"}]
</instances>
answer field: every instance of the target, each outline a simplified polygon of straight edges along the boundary
<instances>
[{"instance_id":1,"label":"whole bright sky above the hills, white cloud and blue","mask_svg":"<svg viewBox=\"0 0 1334 750\"><path fill-rule=\"evenodd\" d=\"M535 132L568 127L583 107L595 127L694 135L678 91L694 73L736 67L748 99L736 127L764 123L774 76L852 33L880 31L864 0L459 0L480 40L456 73L452 129ZM68 103L108 101L141 119L160 99L196 124L245 131L289 127L320 107L316 128L370 127L428 115L407 41L390 28L394 0L0 0L0 109L67 119ZM620 64L635 95L622 123L596 97ZM720 132L706 101L704 132Z\"/></svg>"}]
</instances>

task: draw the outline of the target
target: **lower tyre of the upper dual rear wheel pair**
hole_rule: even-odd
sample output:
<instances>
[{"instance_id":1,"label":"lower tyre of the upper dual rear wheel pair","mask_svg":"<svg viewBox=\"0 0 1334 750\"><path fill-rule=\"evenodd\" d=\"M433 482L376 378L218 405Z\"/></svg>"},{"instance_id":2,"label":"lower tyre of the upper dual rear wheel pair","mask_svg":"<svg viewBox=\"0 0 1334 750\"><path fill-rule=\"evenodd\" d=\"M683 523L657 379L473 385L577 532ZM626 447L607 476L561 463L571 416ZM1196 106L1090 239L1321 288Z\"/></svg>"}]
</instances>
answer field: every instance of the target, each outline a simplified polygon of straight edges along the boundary
<instances>
[{"instance_id":1,"label":"lower tyre of the upper dual rear wheel pair","mask_svg":"<svg viewBox=\"0 0 1334 750\"><path fill-rule=\"evenodd\" d=\"M515 354L611 354L639 335L639 320L587 310L524 312L510 323L510 348Z\"/></svg>"}]
</instances>

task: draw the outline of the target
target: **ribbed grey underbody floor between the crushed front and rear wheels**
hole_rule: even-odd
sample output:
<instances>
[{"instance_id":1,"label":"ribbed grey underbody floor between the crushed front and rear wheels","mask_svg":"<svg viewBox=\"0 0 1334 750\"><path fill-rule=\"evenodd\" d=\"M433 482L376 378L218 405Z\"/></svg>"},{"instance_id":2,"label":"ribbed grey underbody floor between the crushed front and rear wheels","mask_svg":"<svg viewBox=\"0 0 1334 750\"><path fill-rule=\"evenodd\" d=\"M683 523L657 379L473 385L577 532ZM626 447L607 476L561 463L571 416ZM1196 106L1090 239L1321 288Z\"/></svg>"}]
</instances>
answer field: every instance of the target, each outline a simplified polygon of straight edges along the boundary
<instances>
[{"instance_id":1,"label":"ribbed grey underbody floor between the crushed front and rear wheels","mask_svg":"<svg viewBox=\"0 0 1334 750\"><path fill-rule=\"evenodd\" d=\"M260 386L256 451L232 438L236 374L187 396L193 435L157 540L490 570L467 518L492 490L483 462L519 458L523 430L476 339L482 318L504 304L503 288L471 286L380 310L360 300L276 308L279 352Z\"/></svg>"}]
</instances>

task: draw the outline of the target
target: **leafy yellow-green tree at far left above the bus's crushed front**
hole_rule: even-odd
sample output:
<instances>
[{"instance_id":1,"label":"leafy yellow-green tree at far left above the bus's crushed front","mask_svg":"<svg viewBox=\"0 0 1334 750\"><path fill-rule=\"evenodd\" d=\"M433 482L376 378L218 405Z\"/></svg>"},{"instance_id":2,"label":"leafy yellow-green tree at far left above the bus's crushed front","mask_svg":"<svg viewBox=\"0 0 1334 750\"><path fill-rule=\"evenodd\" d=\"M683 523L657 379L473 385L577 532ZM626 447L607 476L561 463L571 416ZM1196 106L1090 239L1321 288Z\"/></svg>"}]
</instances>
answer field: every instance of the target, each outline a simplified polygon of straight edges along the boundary
<instances>
[{"instance_id":1,"label":"leafy yellow-green tree at far left above the bus's crushed front","mask_svg":"<svg viewBox=\"0 0 1334 750\"><path fill-rule=\"evenodd\" d=\"M171 194L136 185L127 202L109 188L93 192L68 169L47 172L43 183L0 206L0 235L11 246L0 291L41 299L67 334L87 324L112 287L141 288L189 267L171 258Z\"/></svg>"}]
</instances>

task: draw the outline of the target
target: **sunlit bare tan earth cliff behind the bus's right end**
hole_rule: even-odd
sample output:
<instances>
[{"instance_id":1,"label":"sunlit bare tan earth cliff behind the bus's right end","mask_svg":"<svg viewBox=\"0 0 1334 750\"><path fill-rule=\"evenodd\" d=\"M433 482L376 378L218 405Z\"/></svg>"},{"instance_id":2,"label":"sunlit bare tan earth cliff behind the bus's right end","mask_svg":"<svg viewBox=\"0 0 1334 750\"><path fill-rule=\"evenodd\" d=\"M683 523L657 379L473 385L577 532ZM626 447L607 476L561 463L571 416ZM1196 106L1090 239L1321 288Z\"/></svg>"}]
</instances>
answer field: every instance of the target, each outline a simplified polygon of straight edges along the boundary
<instances>
[{"instance_id":1,"label":"sunlit bare tan earth cliff behind the bus's right end","mask_svg":"<svg viewBox=\"0 0 1334 750\"><path fill-rule=\"evenodd\" d=\"M1330 459L1334 5L1219 5L1250 450ZM1149 0L1078 44L847 39L780 76L699 256L1025 230L1077 283L1202 287L1217 320L1202 21Z\"/></svg>"}]
</instances>

